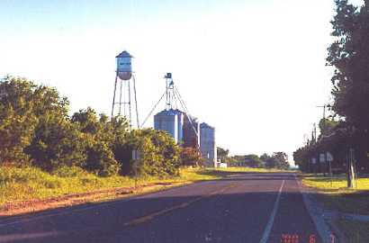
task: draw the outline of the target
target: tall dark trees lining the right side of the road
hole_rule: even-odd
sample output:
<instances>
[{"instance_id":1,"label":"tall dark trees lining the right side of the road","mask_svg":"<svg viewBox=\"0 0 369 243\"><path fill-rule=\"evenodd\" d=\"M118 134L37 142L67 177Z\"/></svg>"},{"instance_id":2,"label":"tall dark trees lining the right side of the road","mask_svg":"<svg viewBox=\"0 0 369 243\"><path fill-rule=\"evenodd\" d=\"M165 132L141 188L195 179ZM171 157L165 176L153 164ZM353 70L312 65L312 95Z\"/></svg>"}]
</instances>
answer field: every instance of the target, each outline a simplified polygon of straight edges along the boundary
<instances>
[{"instance_id":1,"label":"tall dark trees lining the right side of the road","mask_svg":"<svg viewBox=\"0 0 369 243\"><path fill-rule=\"evenodd\" d=\"M337 14L331 22L335 41L327 58L335 68L331 79L334 101L329 105L334 115L320 121L320 136L313 134L293 153L293 159L303 171L328 172L329 163L320 163L320 155L329 152L334 170L353 166L369 173L369 3L357 7L336 0L336 4Z\"/></svg>"}]
</instances>

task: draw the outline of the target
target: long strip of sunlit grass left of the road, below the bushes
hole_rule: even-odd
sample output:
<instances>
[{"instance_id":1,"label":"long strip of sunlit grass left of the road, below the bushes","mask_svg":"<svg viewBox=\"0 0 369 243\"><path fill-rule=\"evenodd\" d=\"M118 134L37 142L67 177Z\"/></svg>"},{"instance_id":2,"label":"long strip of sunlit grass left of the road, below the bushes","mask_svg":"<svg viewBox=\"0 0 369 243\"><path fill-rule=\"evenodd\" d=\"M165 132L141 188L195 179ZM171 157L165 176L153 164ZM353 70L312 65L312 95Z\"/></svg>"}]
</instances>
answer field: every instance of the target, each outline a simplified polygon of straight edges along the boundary
<instances>
[{"instance_id":1,"label":"long strip of sunlit grass left of the road, below the bushes","mask_svg":"<svg viewBox=\"0 0 369 243\"><path fill-rule=\"evenodd\" d=\"M129 176L99 177L84 170L60 168L52 175L35 167L0 167L0 205L5 203L48 199L72 193L88 193L117 187L134 187L142 184L188 184L202 180L216 180L226 175L247 172L279 172L257 168L182 168L180 176L173 178L147 177L137 181Z\"/></svg>"}]
</instances>

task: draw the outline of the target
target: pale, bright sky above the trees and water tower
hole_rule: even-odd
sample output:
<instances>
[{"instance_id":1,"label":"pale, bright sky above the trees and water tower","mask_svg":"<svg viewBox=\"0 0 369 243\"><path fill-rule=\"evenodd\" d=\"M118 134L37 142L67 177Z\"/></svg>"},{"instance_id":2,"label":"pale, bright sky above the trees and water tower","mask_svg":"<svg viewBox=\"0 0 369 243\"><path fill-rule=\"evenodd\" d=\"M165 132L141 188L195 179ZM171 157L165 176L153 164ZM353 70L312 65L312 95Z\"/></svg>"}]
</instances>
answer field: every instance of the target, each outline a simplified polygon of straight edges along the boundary
<instances>
[{"instance_id":1,"label":"pale, bright sky above the trees and water tower","mask_svg":"<svg viewBox=\"0 0 369 243\"><path fill-rule=\"evenodd\" d=\"M110 114L114 58L126 49L141 121L171 72L217 146L292 161L322 117L316 106L331 101L334 10L333 0L2 0L0 77L54 86L71 112Z\"/></svg>"}]
</instances>

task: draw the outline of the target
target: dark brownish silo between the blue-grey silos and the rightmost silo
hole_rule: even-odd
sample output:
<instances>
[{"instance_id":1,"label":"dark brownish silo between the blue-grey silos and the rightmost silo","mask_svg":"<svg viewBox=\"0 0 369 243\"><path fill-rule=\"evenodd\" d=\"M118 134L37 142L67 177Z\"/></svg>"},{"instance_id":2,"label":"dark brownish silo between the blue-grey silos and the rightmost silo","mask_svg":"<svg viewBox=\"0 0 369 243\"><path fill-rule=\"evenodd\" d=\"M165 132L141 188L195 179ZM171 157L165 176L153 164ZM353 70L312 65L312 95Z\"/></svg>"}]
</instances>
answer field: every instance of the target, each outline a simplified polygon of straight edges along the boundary
<instances>
[{"instance_id":1,"label":"dark brownish silo between the blue-grey silos and the rightmost silo","mask_svg":"<svg viewBox=\"0 0 369 243\"><path fill-rule=\"evenodd\" d=\"M191 118L188 119L188 117ZM200 123L197 118L187 114L184 116L184 147L199 148Z\"/></svg>"}]
</instances>

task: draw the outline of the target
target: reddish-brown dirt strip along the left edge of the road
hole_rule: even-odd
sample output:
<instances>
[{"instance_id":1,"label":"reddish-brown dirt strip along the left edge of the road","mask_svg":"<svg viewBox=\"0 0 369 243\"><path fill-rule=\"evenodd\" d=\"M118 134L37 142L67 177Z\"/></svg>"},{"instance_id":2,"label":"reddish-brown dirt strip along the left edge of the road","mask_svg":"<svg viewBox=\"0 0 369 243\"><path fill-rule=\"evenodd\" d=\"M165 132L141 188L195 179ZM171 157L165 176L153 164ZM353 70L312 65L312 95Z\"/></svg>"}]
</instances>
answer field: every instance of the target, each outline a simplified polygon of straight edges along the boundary
<instances>
[{"instance_id":1,"label":"reddish-brown dirt strip along the left edge of the road","mask_svg":"<svg viewBox=\"0 0 369 243\"><path fill-rule=\"evenodd\" d=\"M88 193L74 193L48 199L34 199L20 202L8 202L0 205L1 216L13 216L34 211L44 211L83 204L86 202L99 202L106 199L118 199L136 193L156 191L166 187L174 186L175 183L163 184L140 184L136 187L117 187L98 190Z\"/></svg>"}]
</instances>

